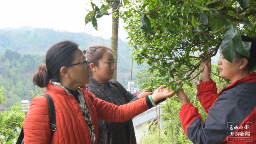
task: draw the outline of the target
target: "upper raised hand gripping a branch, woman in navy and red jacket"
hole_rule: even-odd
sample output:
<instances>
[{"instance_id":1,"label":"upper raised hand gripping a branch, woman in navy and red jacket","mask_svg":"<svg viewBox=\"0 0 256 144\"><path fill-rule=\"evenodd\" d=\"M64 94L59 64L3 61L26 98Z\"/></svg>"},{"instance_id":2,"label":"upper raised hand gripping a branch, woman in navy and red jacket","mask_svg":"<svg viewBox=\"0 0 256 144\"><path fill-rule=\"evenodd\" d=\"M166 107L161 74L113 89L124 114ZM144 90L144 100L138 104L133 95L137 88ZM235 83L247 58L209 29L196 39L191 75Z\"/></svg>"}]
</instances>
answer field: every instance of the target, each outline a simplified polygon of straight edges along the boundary
<instances>
[{"instance_id":1,"label":"upper raised hand gripping a branch, woman in navy and red jacket","mask_svg":"<svg viewBox=\"0 0 256 144\"><path fill-rule=\"evenodd\" d=\"M207 64L207 62L208 62L208 64ZM201 70L204 69L204 71L201 72L203 82L207 82L207 81L211 80L211 68L212 68L212 65L211 65L210 58L208 58L206 61L201 63Z\"/></svg>"}]
</instances>

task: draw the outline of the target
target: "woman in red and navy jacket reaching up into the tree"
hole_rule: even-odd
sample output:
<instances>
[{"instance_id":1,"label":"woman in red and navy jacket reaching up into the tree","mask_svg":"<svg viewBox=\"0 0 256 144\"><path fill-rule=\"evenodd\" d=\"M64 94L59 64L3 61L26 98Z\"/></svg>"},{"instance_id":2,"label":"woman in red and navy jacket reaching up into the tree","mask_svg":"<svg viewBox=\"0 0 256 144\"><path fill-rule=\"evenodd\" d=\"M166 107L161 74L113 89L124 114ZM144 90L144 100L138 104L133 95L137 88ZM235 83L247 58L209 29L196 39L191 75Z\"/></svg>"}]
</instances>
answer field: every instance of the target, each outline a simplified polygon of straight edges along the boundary
<instances>
[{"instance_id":1,"label":"woman in red and navy jacket reaching up into the tree","mask_svg":"<svg viewBox=\"0 0 256 144\"><path fill-rule=\"evenodd\" d=\"M256 73L250 73L256 66L256 41L248 36L242 36L242 40L251 42L249 58L236 52L231 63L220 51L220 76L228 78L231 84L219 93L210 78L211 63L202 64L204 71L197 96L208 114L204 122L183 90L177 93L182 103L183 129L194 144L256 143Z\"/></svg>"}]
</instances>

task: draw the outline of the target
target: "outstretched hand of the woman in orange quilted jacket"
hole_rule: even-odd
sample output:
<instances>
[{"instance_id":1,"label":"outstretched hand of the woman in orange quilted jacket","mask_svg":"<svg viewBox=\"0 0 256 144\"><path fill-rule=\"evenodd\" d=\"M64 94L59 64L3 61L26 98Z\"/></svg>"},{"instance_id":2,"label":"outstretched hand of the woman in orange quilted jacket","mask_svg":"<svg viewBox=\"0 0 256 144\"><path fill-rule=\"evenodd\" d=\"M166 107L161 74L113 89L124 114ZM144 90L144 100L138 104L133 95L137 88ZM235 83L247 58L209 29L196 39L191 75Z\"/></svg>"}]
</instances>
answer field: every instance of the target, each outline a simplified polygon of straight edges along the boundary
<instances>
[{"instance_id":1,"label":"outstretched hand of the woman in orange quilted jacket","mask_svg":"<svg viewBox=\"0 0 256 144\"><path fill-rule=\"evenodd\" d=\"M174 90L171 89L171 91L168 90L168 88L164 88L164 86L160 86L159 88L157 88L154 93L151 95L152 100L154 102L157 102L160 99L163 98L170 98L172 96L174 96Z\"/></svg>"}]
</instances>

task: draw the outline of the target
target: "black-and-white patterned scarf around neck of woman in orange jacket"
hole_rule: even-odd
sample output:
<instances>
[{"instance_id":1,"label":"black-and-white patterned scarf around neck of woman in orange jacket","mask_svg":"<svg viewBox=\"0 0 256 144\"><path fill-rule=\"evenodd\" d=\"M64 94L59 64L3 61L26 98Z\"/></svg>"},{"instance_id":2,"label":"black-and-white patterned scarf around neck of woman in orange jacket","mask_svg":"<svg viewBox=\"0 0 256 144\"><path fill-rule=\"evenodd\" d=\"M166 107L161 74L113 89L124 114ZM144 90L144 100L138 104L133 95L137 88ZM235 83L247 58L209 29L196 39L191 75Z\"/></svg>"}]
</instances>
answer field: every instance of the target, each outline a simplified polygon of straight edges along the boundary
<instances>
[{"instance_id":1,"label":"black-and-white patterned scarf around neck of woman in orange jacket","mask_svg":"<svg viewBox=\"0 0 256 144\"><path fill-rule=\"evenodd\" d=\"M71 94L62 84L60 84L59 82L54 82L52 81L51 82L52 85L54 86L57 86L59 88L63 88L67 94ZM84 115L84 119L87 123L87 126L88 126L88 129L90 131L90 136L91 136L91 139L92 139L92 144L95 144L95 140L96 140L96 135L95 135L95 132L94 132L94 126L92 125L92 120L91 120L91 115L90 115L90 111L89 111L89 108L88 106L86 106L86 103L85 103L85 100L84 100L84 94L82 92L82 90L80 88L77 89L78 92L79 92L79 96L78 96L78 99L80 100L80 103L79 103L79 106L82 110L82 113ZM72 95L72 94L71 94ZM72 95L73 96L73 95ZM74 96L73 96L74 97Z\"/></svg>"}]
</instances>

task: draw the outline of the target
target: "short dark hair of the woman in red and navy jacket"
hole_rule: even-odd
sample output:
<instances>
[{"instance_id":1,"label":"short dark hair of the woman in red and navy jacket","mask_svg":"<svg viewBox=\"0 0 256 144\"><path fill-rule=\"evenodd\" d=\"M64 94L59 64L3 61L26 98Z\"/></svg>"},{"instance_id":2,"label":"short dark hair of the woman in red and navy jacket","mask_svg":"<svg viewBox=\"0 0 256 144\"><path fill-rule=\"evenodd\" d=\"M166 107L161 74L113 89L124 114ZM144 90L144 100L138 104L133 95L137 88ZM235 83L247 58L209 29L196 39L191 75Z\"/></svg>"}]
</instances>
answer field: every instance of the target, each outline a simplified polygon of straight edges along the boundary
<instances>
[{"instance_id":1,"label":"short dark hair of the woman in red and navy jacket","mask_svg":"<svg viewBox=\"0 0 256 144\"><path fill-rule=\"evenodd\" d=\"M249 36L241 36L241 38L244 42L252 42L250 48L250 57L247 58L246 56L243 56L242 54L236 52L235 60L238 61L246 58L248 60L247 68L249 71L251 71L256 66L256 37L250 38Z\"/></svg>"}]
</instances>

